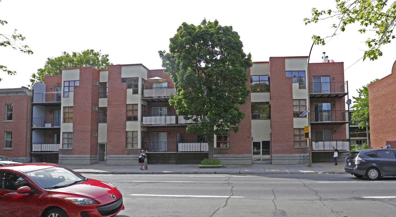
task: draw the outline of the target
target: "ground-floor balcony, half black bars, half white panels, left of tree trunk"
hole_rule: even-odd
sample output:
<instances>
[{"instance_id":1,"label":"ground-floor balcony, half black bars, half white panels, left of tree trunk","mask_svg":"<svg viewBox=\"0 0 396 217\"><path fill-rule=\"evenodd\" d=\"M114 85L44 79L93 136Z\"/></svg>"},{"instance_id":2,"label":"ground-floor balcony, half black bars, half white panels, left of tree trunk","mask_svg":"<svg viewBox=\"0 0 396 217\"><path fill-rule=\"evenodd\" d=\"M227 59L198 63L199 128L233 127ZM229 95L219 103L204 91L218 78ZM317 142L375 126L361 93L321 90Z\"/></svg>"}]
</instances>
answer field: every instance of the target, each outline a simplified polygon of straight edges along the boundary
<instances>
[{"instance_id":1,"label":"ground-floor balcony, half black bars, half white panels, left of tree trunk","mask_svg":"<svg viewBox=\"0 0 396 217\"><path fill-rule=\"evenodd\" d=\"M207 142L143 142L148 152L208 152Z\"/></svg>"}]
</instances>

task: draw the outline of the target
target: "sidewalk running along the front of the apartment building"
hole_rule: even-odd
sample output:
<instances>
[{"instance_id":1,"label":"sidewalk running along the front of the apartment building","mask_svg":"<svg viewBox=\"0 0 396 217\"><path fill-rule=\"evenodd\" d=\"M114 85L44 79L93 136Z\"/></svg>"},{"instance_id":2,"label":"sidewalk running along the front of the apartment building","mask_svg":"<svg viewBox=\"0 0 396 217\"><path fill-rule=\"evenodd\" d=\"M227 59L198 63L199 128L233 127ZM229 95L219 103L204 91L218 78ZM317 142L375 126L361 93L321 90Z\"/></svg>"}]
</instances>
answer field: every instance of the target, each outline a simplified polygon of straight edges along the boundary
<instances>
[{"instance_id":1,"label":"sidewalk running along the front of the apartment building","mask_svg":"<svg viewBox=\"0 0 396 217\"><path fill-rule=\"evenodd\" d=\"M313 163L312 167L301 164L271 165L225 165L223 168L198 168L198 164L148 164L148 170L140 166L62 165L78 173L90 174L346 174L344 163Z\"/></svg>"}]
</instances>

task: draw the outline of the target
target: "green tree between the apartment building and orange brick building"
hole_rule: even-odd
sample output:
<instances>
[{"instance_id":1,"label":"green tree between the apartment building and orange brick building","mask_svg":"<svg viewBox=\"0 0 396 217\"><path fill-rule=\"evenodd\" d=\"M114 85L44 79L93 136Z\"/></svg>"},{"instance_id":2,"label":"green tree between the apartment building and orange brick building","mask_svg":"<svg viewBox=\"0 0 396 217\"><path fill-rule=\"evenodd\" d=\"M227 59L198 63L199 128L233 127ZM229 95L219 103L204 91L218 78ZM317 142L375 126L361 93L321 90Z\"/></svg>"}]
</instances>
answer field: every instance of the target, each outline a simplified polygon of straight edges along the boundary
<instances>
[{"instance_id":1,"label":"green tree between the apartment building and orange brick building","mask_svg":"<svg viewBox=\"0 0 396 217\"><path fill-rule=\"evenodd\" d=\"M369 84L378 81L378 79L375 79L374 81L371 81ZM352 96L354 99L354 104L351 107L352 109L355 109L354 113L352 113L352 121L359 121L358 127L361 129L366 128L366 121L370 121L369 117L369 89L368 85L364 85L362 89L358 89L359 96Z\"/></svg>"}]
</instances>

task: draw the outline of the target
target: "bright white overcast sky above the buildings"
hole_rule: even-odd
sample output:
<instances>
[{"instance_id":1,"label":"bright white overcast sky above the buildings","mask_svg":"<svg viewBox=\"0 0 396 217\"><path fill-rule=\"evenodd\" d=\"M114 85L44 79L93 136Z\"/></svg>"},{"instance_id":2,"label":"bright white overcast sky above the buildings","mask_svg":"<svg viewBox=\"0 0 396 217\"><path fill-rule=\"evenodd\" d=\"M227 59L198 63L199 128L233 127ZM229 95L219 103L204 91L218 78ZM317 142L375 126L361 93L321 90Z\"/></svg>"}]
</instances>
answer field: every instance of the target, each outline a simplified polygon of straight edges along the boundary
<instances>
[{"instance_id":1,"label":"bright white overcast sky above the buildings","mask_svg":"<svg viewBox=\"0 0 396 217\"><path fill-rule=\"evenodd\" d=\"M268 61L269 57L308 56L311 36L322 38L332 34L326 20L305 26L303 19L311 17L311 9L329 9L332 1L127 1L127 0L2 0L1 34L13 29L26 37L33 55L0 47L0 64L17 75L0 72L0 88L17 88L30 84L32 73L42 68L46 58L58 57L62 51L72 53L86 49L109 54L112 64L142 63L149 69L160 69L159 50L167 50L181 23L194 25L204 19L217 19L222 26L232 26L244 44L245 53L253 61ZM310 62L322 62L322 52L329 59L344 62L346 70L359 60L366 49L367 35L357 32L358 25L347 26L346 32L333 37L325 46L314 45ZM360 89L376 78L391 73L396 59L392 42L382 48L379 60L360 60L345 71L349 97L358 96Z\"/></svg>"}]
</instances>

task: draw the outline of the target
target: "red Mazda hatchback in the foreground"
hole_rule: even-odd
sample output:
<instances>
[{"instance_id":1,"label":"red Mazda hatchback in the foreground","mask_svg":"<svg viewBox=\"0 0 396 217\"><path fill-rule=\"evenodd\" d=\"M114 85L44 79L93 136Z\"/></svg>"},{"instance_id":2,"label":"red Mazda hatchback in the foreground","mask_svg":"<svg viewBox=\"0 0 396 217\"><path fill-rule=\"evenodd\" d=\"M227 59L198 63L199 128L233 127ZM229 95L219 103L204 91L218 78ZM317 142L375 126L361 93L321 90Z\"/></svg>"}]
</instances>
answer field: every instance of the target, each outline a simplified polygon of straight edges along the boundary
<instances>
[{"instance_id":1,"label":"red Mazda hatchback in the foreground","mask_svg":"<svg viewBox=\"0 0 396 217\"><path fill-rule=\"evenodd\" d=\"M0 167L0 217L102 217L124 209L117 187L47 163Z\"/></svg>"}]
</instances>

